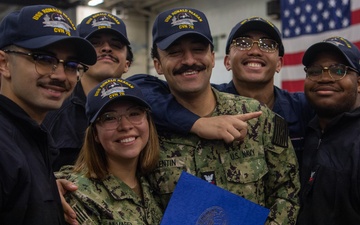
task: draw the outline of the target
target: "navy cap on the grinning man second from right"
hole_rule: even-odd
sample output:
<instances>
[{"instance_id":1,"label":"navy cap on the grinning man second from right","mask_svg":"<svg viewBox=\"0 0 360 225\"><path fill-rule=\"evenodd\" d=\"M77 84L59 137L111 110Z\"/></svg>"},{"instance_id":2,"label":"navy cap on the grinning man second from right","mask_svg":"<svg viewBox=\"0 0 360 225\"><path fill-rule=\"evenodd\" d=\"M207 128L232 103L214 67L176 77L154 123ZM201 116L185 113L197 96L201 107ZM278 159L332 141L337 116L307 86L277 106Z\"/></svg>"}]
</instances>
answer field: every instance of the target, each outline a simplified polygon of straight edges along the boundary
<instances>
[{"instance_id":1,"label":"navy cap on the grinning man second from right","mask_svg":"<svg viewBox=\"0 0 360 225\"><path fill-rule=\"evenodd\" d=\"M285 49L279 29L269 20L261 17L250 17L237 23L231 30L226 42L225 54L229 54L232 41L249 31L261 31L269 35L279 44L279 56L284 56Z\"/></svg>"}]
</instances>

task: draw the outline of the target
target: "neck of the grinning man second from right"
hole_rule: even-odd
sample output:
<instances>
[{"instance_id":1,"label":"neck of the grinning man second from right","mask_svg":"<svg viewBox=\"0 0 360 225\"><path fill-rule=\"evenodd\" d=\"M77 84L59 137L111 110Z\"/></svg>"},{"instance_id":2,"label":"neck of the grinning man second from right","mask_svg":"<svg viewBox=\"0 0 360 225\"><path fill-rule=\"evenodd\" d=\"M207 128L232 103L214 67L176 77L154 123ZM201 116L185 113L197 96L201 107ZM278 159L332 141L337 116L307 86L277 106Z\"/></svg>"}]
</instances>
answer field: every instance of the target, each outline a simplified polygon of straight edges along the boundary
<instances>
[{"instance_id":1,"label":"neck of the grinning man second from right","mask_svg":"<svg viewBox=\"0 0 360 225\"><path fill-rule=\"evenodd\" d=\"M270 109L274 107L275 94L273 83L235 83L236 91L241 96L254 98L267 105Z\"/></svg>"}]
</instances>

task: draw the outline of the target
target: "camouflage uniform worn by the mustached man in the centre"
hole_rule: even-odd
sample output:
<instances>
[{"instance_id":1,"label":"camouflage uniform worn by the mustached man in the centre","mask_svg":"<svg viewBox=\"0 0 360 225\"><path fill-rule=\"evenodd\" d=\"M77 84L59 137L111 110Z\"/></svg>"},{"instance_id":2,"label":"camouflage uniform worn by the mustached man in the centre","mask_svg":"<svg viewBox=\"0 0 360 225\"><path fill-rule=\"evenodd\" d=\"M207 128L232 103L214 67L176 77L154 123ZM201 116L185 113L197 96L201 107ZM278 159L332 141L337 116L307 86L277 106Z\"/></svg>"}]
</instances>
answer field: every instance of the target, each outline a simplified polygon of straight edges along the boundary
<instances>
[{"instance_id":1,"label":"camouflage uniform worn by the mustached man in the centre","mask_svg":"<svg viewBox=\"0 0 360 225\"><path fill-rule=\"evenodd\" d=\"M262 115L248 121L241 143L159 130L161 155L150 185L166 206L184 170L270 208L266 224L295 224L300 182L286 122L254 99L213 91L217 106L212 116L259 110Z\"/></svg>"}]
</instances>

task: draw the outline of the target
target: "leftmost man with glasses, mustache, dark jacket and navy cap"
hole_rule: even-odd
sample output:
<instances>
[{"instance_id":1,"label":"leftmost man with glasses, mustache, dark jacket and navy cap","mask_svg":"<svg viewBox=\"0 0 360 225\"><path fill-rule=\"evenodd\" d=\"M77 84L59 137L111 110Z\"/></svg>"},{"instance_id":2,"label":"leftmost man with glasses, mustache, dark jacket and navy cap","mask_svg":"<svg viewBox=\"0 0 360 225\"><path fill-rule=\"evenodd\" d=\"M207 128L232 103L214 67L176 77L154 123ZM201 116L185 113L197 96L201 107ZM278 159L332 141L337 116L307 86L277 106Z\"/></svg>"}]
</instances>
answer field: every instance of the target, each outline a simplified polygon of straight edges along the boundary
<instances>
[{"instance_id":1,"label":"leftmost man with glasses, mustache, dark jacket and navy cap","mask_svg":"<svg viewBox=\"0 0 360 225\"><path fill-rule=\"evenodd\" d=\"M0 224L65 224L41 123L95 62L92 45L54 6L26 6L2 20Z\"/></svg>"}]
</instances>

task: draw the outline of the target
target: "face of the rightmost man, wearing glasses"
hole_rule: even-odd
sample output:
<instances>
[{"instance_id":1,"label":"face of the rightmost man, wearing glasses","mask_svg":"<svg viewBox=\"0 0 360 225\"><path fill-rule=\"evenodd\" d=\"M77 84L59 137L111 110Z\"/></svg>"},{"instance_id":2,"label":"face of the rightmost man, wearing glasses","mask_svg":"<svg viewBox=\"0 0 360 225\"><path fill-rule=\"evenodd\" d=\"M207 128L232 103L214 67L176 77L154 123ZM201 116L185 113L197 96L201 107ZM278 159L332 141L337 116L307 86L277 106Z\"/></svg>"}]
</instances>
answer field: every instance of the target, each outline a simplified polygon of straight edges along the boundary
<instances>
[{"instance_id":1,"label":"face of the rightmost man, wearing glasses","mask_svg":"<svg viewBox=\"0 0 360 225\"><path fill-rule=\"evenodd\" d=\"M311 63L311 65L322 67L334 64L347 65L347 62L335 53L322 52L318 53ZM338 81L334 81L326 70L323 71L321 79L317 82L305 79L304 91L319 117L332 118L360 106L359 84L359 76L352 70L347 70L345 77Z\"/></svg>"}]
</instances>

